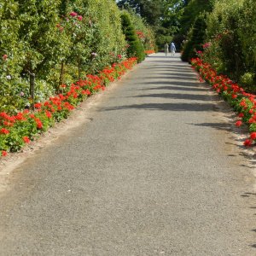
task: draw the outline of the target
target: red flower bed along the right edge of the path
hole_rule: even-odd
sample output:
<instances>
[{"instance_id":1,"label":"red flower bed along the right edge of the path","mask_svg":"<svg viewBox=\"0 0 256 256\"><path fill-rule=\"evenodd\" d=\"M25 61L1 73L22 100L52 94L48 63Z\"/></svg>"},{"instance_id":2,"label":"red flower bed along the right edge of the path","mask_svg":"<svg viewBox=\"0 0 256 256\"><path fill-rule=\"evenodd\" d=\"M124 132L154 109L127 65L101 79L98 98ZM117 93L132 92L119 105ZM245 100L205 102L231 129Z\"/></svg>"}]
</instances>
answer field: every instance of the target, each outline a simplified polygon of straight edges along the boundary
<instances>
[{"instance_id":1,"label":"red flower bed along the right edge of the path","mask_svg":"<svg viewBox=\"0 0 256 256\"><path fill-rule=\"evenodd\" d=\"M230 103L238 113L236 126L246 124L249 127L250 137L244 141L245 146L256 143L256 95L245 92L238 84L227 76L218 75L211 65L204 63L200 58L191 60L192 67L200 74L201 81L205 80L212 85L225 101Z\"/></svg>"}]
</instances>

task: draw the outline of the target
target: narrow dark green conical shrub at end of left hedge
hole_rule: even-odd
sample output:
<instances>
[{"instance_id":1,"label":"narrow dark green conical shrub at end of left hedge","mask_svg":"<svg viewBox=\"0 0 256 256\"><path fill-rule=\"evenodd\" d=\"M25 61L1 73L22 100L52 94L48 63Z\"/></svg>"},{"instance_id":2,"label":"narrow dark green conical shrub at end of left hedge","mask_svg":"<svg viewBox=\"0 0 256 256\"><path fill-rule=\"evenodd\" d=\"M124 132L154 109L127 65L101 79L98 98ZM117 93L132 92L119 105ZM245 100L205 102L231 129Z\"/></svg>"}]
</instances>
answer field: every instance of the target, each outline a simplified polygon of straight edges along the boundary
<instances>
[{"instance_id":1,"label":"narrow dark green conical shrub at end of left hedge","mask_svg":"<svg viewBox=\"0 0 256 256\"><path fill-rule=\"evenodd\" d=\"M125 34L125 40L127 42L127 55L129 57L136 56L139 62L145 58L145 49L140 39L137 37L136 30L131 23L130 14L127 11L123 11L121 15L122 28Z\"/></svg>"}]
</instances>

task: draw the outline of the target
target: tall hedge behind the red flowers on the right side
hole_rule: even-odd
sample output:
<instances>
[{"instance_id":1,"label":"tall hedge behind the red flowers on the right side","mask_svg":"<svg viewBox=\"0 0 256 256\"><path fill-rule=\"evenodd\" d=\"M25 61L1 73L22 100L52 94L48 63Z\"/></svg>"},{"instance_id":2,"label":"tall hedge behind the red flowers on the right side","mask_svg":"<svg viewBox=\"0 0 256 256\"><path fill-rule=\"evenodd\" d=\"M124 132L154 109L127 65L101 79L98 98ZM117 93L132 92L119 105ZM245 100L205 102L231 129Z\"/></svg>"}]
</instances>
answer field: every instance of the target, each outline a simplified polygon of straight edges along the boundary
<instances>
[{"instance_id":1,"label":"tall hedge behind the red flowers on the right side","mask_svg":"<svg viewBox=\"0 0 256 256\"><path fill-rule=\"evenodd\" d=\"M207 47L203 58L219 73L255 91L256 2L216 1L207 19Z\"/></svg>"}]
</instances>

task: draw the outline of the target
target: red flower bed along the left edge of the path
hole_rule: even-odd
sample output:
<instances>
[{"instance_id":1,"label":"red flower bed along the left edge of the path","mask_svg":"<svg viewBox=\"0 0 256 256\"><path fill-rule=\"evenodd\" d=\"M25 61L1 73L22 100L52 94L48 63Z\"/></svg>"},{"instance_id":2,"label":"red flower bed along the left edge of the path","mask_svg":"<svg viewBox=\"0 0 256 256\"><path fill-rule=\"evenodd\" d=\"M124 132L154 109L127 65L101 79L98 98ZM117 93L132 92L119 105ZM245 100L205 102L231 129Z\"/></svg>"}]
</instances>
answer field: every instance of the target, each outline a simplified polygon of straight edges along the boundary
<instances>
[{"instance_id":1,"label":"red flower bed along the left edge of the path","mask_svg":"<svg viewBox=\"0 0 256 256\"><path fill-rule=\"evenodd\" d=\"M137 63L137 58L130 58L112 67L106 67L98 75L87 75L86 79L75 84L62 84L61 93L50 97L46 102L37 102L36 111L28 109L15 115L0 113L0 151L2 156L8 152L19 151L30 143L38 134L47 131L55 122L67 119L68 114L88 96L99 90L105 90L110 82L125 74Z\"/></svg>"}]
</instances>

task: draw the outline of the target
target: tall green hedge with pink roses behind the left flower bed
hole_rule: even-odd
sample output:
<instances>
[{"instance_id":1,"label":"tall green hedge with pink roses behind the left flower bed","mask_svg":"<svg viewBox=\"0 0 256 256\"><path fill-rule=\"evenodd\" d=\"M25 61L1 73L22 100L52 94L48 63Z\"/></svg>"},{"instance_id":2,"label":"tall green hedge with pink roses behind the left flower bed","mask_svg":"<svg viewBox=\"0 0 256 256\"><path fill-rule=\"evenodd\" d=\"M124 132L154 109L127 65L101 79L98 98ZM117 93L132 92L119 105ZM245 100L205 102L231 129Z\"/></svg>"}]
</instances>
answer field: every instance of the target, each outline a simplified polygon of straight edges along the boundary
<instances>
[{"instance_id":1,"label":"tall green hedge with pink roses behind the left flower bed","mask_svg":"<svg viewBox=\"0 0 256 256\"><path fill-rule=\"evenodd\" d=\"M9 0L0 9L0 111L44 101L87 73L125 58L120 11L113 0ZM9 104L12 102L12 105Z\"/></svg>"}]
</instances>

